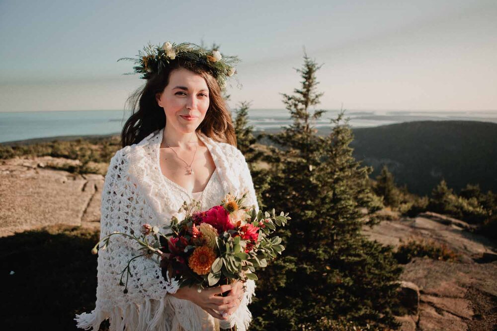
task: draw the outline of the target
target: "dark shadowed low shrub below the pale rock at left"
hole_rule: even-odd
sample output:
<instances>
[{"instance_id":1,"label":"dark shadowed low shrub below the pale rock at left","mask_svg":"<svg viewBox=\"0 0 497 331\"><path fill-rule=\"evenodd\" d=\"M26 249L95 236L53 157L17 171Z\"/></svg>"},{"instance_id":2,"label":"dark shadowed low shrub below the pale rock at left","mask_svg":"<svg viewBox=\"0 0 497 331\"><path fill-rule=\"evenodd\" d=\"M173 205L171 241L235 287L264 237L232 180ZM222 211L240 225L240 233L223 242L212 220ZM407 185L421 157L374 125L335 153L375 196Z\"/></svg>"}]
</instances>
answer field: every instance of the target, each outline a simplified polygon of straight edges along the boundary
<instances>
[{"instance_id":1,"label":"dark shadowed low shrub below the pale rock at left","mask_svg":"<svg viewBox=\"0 0 497 331\"><path fill-rule=\"evenodd\" d=\"M52 226L0 238L2 328L79 330L75 314L95 308L97 259L90 251L98 237L98 231Z\"/></svg>"}]
</instances>

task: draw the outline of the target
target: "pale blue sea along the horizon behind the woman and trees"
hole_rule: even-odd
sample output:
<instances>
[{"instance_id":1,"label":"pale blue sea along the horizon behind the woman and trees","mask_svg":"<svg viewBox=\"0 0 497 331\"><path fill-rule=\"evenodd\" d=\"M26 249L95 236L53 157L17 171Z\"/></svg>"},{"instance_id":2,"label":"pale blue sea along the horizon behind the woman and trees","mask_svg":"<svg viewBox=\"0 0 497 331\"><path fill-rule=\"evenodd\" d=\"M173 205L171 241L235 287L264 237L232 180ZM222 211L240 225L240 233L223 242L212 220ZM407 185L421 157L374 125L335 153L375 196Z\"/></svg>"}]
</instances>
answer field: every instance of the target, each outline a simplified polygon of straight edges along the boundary
<instances>
[{"instance_id":1,"label":"pale blue sea along the horizon behind the woman and trees","mask_svg":"<svg viewBox=\"0 0 497 331\"><path fill-rule=\"evenodd\" d=\"M338 110L328 110L315 127L332 126ZM235 114L233 114L235 117ZM0 142L61 135L111 134L121 131L129 113L122 110L1 112ZM346 111L352 128L413 121L484 121L497 123L497 111ZM280 128L291 123L286 109L250 109L249 125L255 130Z\"/></svg>"}]
</instances>

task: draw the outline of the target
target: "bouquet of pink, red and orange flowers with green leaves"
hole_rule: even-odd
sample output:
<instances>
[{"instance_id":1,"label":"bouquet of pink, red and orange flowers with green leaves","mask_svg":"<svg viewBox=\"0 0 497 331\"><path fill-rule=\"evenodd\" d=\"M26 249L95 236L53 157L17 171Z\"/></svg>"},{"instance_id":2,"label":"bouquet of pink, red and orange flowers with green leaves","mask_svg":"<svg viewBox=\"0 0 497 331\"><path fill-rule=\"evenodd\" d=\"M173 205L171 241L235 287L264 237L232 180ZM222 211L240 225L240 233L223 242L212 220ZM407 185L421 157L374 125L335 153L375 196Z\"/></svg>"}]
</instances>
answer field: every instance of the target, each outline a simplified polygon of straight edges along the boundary
<instances>
[{"instance_id":1,"label":"bouquet of pink, red and orange flowers with green leaves","mask_svg":"<svg viewBox=\"0 0 497 331\"><path fill-rule=\"evenodd\" d=\"M142 254L131 259L121 272L124 293L131 275L129 265L141 256L156 256L166 281L177 281L180 287L197 286L199 291L237 280L256 280L256 268L265 267L268 260L285 249L281 239L271 234L291 218L284 212L276 215L274 208L271 213L256 212L253 206L244 205L245 197L246 194L241 198L228 194L219 205L205 211L200 211L199 201L184 201L178 215L163 227L165 233L149 224L142 226L140 236L114 232L100 240L92 253L97 253L101 242L101 249L105 249L112 235L124 235L138 242Z\"/></svg>"}]
</instances>

